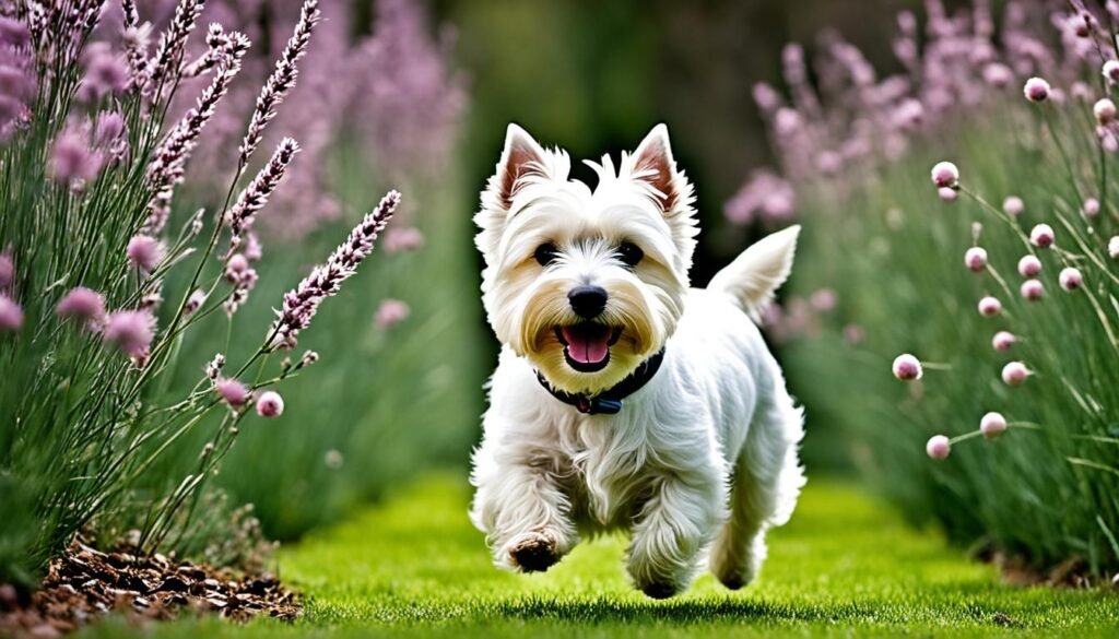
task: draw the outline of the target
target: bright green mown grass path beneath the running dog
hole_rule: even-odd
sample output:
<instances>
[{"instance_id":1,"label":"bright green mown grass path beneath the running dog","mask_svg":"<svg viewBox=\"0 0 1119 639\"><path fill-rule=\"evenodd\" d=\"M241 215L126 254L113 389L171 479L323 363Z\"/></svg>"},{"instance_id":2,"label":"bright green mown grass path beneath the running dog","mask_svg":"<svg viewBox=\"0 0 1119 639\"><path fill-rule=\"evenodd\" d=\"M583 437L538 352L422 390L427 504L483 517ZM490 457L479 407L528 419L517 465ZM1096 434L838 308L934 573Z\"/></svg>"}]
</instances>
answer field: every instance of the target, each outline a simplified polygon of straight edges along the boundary
<instances>
[{"instance_id":1,"label":"bright green mown grass path beneath the running dog","mask_svg":"<svg viewBox=\"0 0 1119 639\"><path fill-rule=\"evenodd\" d=\"M283 551L282 576L309 598L294 626L190 621L145 636L1119 637L1119 594L1004 585L843 485L809 483L758 583L730 593L704 576L664 602L629 588L618 538L544 575L497 571L466 519L468 496L461 480L432 478Z\"/></svg>"}]
</instances>

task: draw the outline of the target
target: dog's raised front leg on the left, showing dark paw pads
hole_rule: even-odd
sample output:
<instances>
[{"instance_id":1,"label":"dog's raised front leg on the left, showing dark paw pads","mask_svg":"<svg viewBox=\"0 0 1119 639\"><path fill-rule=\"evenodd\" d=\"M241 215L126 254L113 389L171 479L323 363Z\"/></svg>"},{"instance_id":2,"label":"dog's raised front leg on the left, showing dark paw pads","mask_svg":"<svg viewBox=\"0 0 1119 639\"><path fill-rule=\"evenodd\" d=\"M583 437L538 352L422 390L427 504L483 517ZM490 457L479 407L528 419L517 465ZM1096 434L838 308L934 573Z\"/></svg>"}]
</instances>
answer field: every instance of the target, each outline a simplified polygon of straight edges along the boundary
<instances>
[{"instance_id":1,"label":"dog's raised front leg on the left, showing dark paw pads","mask_svg":"<svg viewBox=\"0 0 1119 639\"><path fill-rule=\"evenodd\" d=\"M486 533L498 567L546 571L579 542L571 501L555 469L530 451L488 449L474 455L471 518Z\"/></svg>"}]
</instances>

